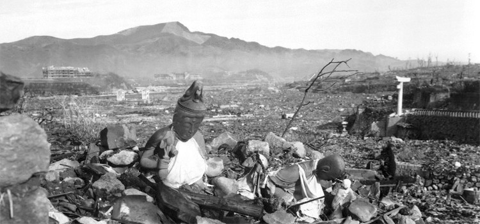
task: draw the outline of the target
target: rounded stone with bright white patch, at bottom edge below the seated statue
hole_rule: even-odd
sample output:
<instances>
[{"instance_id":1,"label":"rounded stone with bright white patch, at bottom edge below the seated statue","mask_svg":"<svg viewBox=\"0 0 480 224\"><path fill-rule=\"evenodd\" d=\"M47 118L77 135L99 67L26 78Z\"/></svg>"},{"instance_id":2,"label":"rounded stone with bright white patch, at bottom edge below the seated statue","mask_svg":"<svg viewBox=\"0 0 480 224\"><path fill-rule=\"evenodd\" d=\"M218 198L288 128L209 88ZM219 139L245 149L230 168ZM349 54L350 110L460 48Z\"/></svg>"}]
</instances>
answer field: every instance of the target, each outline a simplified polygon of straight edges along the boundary
<instances>
[{"instance_id":1,"label":"rounded stone with bright white patch, at bottom edge below the seated statue","mask_svg":"<svg viewBox=\"0 0 480 224\"><path fill-rule=\"evenodd\" d=\"M159 214L163 214L162 211L148 202L145 196L128 195L115 201L112 219L122 223L163 223Z\"/></svg>"}]
</instances>

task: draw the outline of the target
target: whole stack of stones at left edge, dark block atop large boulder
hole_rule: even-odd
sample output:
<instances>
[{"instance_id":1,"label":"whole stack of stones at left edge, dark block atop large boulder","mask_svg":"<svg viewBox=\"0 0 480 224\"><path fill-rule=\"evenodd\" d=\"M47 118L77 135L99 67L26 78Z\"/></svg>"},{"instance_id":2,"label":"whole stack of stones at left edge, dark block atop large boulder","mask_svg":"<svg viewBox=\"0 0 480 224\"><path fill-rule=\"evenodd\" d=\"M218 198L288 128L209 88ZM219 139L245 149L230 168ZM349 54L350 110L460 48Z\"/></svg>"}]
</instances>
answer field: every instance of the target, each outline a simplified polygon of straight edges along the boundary
<instances>
[{"instance_id":1,"label":"whole stack of stones at left edge, dark block atop large boulder","mask_svg":"<svg viewBox=\"0 0 480 224\"><path fill-rule=\"evenodd\" d=\"M0 111L6 111L22 96L23 83L1 73L0 86ZM50 161L45 131L18 114L0 117L0 130L0 223L48 223L50 202L39 177Z\"/></svg>"}]
</instances>

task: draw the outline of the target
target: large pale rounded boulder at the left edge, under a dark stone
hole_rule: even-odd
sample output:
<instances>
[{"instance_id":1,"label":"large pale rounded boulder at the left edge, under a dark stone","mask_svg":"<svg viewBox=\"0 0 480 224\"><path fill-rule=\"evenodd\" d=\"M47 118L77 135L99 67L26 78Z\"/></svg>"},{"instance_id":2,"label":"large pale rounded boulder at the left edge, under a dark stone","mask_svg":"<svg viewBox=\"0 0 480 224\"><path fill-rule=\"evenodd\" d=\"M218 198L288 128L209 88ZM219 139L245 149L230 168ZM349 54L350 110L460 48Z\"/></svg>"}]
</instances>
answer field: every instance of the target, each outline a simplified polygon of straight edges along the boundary
<instances>
[{"instance_id":1,"label":"large pale rounded boulder at the left edge, under a dark stone","mask_svg":"<svg viewBox=\"0 0 480 224\"><path fill-rule=\"evenodd\" d=\"M49 163L50 143L37 122L20 114L0 117L0 186L24 182Z\"/></svg>"}]
</instances>

